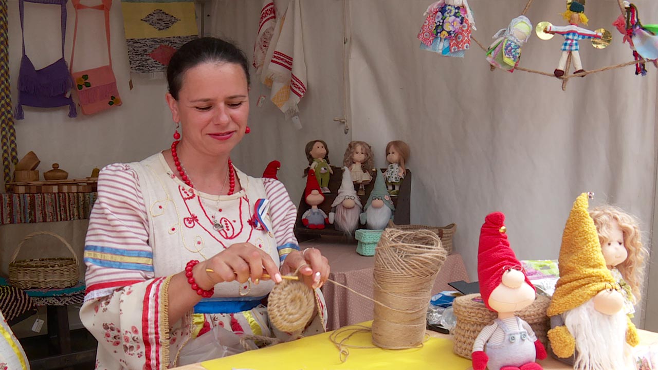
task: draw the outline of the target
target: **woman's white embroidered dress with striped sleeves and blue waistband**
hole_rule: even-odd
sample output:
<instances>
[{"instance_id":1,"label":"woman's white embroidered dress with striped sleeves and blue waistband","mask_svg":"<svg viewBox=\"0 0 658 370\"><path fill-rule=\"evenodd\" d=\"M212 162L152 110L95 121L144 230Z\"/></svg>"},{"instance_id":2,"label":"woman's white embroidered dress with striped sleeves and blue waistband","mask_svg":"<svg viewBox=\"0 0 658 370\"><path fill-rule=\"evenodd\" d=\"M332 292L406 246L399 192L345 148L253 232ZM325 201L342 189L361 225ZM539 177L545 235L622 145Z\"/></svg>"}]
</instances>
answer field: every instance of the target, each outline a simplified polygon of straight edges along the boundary
<instances>
[{"instance_id":1,"label":"woman's white embroidered dress with striped sleeves and blue waistband","mask_svg":"<svg viewBox=\"0 0 658 370\"><path fill-rule=\"evenodd\" d=\"M97 369L174 367L184 346L194 346L197 336L216 326L286 336L270 325L260 304L271 281L217 284L212 298L168 323L169 279L191 259L207 259L241 242L262 248L276 263L299 249L293 234L297 212L283 184L237 170L236 176L243 190L213 196L178 180L161 153L101 171L85 242L87 294L80 310L99 341ZM316 298L320 315L305 335L326 328L319 290Z\"/></svg>"}]
</instances>

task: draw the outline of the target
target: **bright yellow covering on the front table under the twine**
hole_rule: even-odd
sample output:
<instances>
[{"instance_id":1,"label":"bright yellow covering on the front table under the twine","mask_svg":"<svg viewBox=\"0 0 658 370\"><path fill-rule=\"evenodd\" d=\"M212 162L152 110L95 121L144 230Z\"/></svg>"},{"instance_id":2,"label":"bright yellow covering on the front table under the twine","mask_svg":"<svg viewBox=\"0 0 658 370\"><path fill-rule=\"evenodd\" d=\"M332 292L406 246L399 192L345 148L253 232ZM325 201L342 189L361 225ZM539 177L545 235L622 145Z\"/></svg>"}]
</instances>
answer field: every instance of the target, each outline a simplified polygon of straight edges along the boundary
<instances>
[{"instance_id":1,"label":"bright yellow covering on the front table under the twine","mask_svg":"<svg viewBox=\"0 0 658 370\"><path fill-rule=\"evenodd\" d=\"M370 327L372 322L363 323ZM330 332L308 336L293 342L244 352L230 357L201 363L208 370L231 368L253 370L367 370L367 369L442 369L466 370L468 359L453 353L453 342L429 338L422 348L382 350L381 348L349 348L349 357L340 362L338 349L329 340ZM349 339L353 346L372 346L370 332L355 334Z\"/></svg>"}]
</instances>

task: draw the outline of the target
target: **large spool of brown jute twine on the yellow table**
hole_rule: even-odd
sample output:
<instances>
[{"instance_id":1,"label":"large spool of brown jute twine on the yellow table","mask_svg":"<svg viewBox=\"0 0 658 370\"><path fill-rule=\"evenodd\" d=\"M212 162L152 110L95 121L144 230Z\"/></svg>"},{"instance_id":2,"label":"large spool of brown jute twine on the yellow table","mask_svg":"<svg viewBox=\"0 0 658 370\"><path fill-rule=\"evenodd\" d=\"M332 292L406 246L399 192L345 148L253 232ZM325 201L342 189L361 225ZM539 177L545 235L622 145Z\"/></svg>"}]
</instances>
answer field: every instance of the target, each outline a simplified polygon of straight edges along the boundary
<instances>
[{"instance_id":1,"label":"large spool of brown jute twine on the yellow table","mask_svg":"<svg viewBox=\"0 0 658 370\"><path fill-rule=\"evenodd\" d=\"M387 228L374 255L372 344L386 349L420 346L436 275L446 259L428 230Z\"/></svg>"}]
</instances>

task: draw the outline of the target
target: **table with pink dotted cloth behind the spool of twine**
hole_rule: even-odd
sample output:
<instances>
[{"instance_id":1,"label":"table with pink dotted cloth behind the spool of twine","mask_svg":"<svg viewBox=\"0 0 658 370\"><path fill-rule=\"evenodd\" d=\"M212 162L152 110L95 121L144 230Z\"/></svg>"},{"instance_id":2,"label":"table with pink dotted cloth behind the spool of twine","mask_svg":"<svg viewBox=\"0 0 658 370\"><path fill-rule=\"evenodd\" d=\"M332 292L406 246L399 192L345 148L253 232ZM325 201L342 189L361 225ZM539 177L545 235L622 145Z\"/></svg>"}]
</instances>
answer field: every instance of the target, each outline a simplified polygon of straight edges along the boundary
<instances>
[{"instance_id":1,"label":"table with pink dotted cloth behind the spool of twine","mask_svg":"<svg viewBox=\"0 0 658 370\"><path fill-rule=\"evenodd\" d=\"M340 282L365 296L372 297L372 272L374 257L359 255L356 242L346 242L344 238L323 237L318 240L302 242L301 250L317 248L327 257L331 266L329 278ZM454 290L448 282L468 281L468 275L461 255L454 253L447 257L439 271L432 294L443 290ZM335 330L346 325L372 320L373 303L327 282L322 286L326 302L328 323L327 330Z\"/></svg>"}]
</instances>

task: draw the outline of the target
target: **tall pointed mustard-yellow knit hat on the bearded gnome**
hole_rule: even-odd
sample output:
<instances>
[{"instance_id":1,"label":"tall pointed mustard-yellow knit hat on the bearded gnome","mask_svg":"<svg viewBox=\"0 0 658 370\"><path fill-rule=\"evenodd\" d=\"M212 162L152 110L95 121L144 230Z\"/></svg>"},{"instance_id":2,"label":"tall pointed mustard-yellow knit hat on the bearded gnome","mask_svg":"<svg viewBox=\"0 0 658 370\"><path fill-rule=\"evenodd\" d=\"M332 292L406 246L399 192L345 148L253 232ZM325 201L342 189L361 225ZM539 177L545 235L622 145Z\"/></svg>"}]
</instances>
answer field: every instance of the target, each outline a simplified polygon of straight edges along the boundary
<instances>
[{"instance_id":1,"label":"tall pointed mustard-yellow knit hat on the bearded gnome","mask_svg":"<svg viewBox=\"0 0 658 370\"><path fill-rule=\"evenodd\" d=\"M547 310L548 316L579 307L601 290L615 286L615 279L605 266L588 205L588 194L580 194L567 219L558 260L560 278Z\"/></svg>"}]
</instances>

